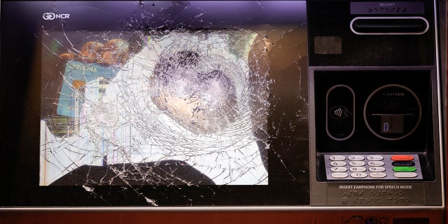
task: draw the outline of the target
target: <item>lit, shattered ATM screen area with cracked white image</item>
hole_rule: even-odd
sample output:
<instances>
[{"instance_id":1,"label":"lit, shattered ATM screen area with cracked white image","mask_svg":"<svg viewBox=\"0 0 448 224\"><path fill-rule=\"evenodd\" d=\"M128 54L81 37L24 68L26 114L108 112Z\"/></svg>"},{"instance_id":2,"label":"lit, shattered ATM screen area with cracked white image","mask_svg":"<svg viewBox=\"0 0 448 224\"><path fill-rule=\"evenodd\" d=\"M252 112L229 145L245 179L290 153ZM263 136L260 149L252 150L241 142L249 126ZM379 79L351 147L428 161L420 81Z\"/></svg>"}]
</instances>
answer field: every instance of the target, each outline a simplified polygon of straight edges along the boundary
<instances>
[{"instance_id":1,"label":"lit, shattered ATM screen area with cracked white image","mask_svg":"<svg viewBox=\"0 0 448 224\"><path fill-rule=\"evenodd\" d=\"M133 52L123 35L102 44L92 34L59 55L69 59L63 73L43 86L59 94L42 99L57 99L43 108L43 185L268 183L267 148L257 144L267 140L255 137L266 132L269 106L262 38L245 30L159 33L139 36ZM46 38L51 45L59 36L76 38ZM55 78L60 90L48 83ZM108 174L80 176L84 165ZM209 178L188 179L196 172Z\"/></svg>"}]
</instances>

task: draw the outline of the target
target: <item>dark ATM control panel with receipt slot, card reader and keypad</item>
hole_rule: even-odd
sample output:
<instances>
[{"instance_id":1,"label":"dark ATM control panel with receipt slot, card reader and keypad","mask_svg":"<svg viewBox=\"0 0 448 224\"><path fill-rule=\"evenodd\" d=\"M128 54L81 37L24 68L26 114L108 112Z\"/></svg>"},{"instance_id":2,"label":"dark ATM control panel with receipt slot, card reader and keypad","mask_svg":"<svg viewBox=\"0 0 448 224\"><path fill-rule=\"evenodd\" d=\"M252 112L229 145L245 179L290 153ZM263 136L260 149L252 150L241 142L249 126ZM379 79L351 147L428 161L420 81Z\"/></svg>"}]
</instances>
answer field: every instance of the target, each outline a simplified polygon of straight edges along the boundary
<instances>
[{"instance_id":1,"label":"dark ATM control panel with receipt slot, card reader and keypad","mask_svg":"<svg viewBox=\"0 0 448 224\"><path fill-rule=\"evenodd\" d=\"M433 6L389 5L308 4L311 205L444 204Z\"/></svg>"}]
</instances>

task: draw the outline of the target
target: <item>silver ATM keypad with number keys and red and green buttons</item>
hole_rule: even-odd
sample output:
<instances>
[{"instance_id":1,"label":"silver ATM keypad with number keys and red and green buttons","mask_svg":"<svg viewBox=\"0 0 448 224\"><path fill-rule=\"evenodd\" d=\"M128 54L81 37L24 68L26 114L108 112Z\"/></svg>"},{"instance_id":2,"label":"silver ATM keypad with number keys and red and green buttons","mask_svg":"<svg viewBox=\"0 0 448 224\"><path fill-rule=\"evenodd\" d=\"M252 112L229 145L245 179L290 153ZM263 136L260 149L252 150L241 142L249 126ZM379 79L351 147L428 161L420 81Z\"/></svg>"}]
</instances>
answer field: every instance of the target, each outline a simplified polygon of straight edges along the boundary
<instances>
[{"instance_id":1,"label":"silver ATM keypad with number keys and red and green buttons","mask_svg":"<svg viewBox=\"0 0 448 224\"><path fill-rule=\"evenodd\" d=\"M423 179L414 154L324 155L328 180Z\"/></svg>"}]
</instances>

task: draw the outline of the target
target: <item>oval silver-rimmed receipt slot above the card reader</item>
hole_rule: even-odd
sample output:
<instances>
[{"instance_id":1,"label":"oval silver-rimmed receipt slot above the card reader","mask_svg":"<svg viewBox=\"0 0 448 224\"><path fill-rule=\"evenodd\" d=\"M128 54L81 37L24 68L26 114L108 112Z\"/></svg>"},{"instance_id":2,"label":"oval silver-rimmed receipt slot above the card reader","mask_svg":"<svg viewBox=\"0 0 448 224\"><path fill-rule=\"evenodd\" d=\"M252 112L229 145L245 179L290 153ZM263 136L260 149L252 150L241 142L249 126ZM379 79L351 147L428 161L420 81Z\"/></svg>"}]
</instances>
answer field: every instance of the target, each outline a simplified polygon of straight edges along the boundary
<instances>
[{"instance_id":1,"label":"oval silver-rimmed receipt slot above the card reader","mask_svg":"<svg viewBox=\"0 0 448 224\"><path fill-rule=\"evenodd\" d=\"M424 34L428 31L425 18L354 18L350 23L351 31L359 35L368 34Z\"/></svg>"}]
</instances>

